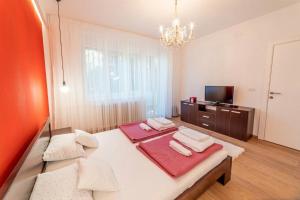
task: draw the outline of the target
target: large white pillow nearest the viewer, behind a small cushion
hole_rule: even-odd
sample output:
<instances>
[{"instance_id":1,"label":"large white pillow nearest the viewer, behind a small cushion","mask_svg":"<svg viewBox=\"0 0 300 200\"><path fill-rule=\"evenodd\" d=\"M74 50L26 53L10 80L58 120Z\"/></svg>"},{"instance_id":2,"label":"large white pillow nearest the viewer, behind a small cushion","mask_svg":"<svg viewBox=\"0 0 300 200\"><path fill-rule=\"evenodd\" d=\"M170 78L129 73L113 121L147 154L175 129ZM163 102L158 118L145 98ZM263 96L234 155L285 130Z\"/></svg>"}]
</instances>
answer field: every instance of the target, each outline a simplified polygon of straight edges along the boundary
<instances>
[{"instance_id":1,"label":"large white pillow nearest the viewer, behind a small cushion","mask_svg":"<svg viewBox=\"0 0 300 200\"><path fill-rule=\"evenodd\" d=\"M30 200L92 200L92 191L77 189L77 177L77 164L39 174Z\"/></svg>"}]
</instances>

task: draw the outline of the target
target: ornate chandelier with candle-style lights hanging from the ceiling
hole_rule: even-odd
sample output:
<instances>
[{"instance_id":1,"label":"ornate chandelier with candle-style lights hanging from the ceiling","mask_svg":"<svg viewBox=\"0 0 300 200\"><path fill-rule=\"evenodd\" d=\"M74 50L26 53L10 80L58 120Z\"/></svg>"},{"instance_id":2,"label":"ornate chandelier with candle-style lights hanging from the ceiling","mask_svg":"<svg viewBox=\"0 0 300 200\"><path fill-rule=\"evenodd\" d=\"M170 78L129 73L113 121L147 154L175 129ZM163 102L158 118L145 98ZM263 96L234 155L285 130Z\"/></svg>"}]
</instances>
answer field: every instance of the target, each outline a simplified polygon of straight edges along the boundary
<instances>
[{"instance_id":1,"label":"ornate chandelier with candle-style lights hanging from the ceiling","mask_svg":"<svg viewBox=\"0 0 300 200\"><path fill-rule=\"evenodd\" d=\"M175 0L175 19L172 21L172 26L164 28L159 27L160 41L165 46L180 47L190 41L193 36L194 23L191 22L189 27L181 26L178 18L177 0Z\"/></svg>"}]
</instances>

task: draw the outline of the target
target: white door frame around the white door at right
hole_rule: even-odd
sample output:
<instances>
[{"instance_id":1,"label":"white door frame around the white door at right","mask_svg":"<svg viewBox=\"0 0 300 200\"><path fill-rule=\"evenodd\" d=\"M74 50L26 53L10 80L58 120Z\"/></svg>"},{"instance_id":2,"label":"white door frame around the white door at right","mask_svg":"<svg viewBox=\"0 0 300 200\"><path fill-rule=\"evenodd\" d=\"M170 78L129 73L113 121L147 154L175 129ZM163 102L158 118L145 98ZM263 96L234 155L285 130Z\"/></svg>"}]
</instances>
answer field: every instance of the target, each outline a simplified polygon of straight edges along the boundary
<instances>
[{"instance_id":1,"label":"white door frame around the white door at right","mask_svg":"<svg viewBox=\"0 0 300 200\"><path fill-rule=\"evenodd\" d=\"M266 138L269 93L270 93L270 87L271 87L271 81L272 81L272 69L273 69L275 48L278 46L293 43L293 42L300 42L300 36L295 37L293 39L278 41L273 44L270 44L270 46L269 46L267 65L266 65L266 73L265 73L265 81L264 81L262 101L261 101L262 107L261 107L261 113L260 113L260 119L259 119L258 139L265 140L265 138Z\"/></svg>"}]
</instances>

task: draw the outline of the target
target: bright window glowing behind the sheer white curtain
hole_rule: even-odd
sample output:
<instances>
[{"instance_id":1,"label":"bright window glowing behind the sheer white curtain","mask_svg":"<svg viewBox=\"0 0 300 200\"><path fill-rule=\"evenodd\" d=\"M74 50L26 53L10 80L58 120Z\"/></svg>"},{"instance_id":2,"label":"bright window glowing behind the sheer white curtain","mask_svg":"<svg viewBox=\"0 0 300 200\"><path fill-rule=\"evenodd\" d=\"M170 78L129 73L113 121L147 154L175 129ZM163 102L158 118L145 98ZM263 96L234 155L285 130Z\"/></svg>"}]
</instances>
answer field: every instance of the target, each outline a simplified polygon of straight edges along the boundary
<instances>
[{"instance_id":1,"label":"bright window glowing behind the sheer white curtain","mask_svg":"<svg viewBox=\"0 0 300 200\"><path fill-rule=\"evenodd\" d=\"M90 102L144 101L148 116L159 115L167 95L167 65L159 56L85 49L85 87Z\"/></svg>"}]
</instances>

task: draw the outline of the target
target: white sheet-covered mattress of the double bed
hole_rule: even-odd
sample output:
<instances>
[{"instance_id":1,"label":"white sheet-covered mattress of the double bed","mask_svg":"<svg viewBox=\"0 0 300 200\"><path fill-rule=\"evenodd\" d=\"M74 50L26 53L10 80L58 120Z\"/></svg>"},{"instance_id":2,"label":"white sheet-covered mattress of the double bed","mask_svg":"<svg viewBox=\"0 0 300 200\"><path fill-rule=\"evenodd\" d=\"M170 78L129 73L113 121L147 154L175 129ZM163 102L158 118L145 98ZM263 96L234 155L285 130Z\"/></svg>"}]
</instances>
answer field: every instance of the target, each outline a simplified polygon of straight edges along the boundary
<instances>
[{"instance_id":1,"label":"white sheet-covered mattress of the double bed","mask_svg":"<svg viewBox=\"0 0 300 200\"><path fill-rule=\"evenodd\" d=\"M139 152L119 129L97 133L96 136L99 148L88 149L88 156L109 162L120 185L118 192L98 193L96 200L175 199L228 155L226 150L220 150L185 175L174 179ZM76 159L49 162L46 171L74 162Z\"/></svg>"}]
</instances>

